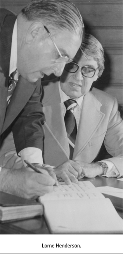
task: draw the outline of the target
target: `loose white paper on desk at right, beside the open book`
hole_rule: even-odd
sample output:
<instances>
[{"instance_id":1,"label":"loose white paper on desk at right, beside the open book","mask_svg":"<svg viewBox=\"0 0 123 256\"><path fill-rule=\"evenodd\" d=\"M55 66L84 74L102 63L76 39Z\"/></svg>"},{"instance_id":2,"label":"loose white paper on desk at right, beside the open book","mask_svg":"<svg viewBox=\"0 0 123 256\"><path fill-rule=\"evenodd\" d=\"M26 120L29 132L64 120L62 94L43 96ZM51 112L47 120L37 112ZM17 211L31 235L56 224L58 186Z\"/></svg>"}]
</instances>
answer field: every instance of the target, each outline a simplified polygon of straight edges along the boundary
<instances>
[{"instance_id":1,"label":"loose white paper on desk at right, beside the open book","mask_svg":"<svg viewBox=\"0 0 123 256\"><path fill-rule=\"evenodd\" d=\"M114 197L123 198L123 189L121 188L113 188L109 186L97 187L97 189L104 194L114 195Z\"/></svg>"}]
</instances>

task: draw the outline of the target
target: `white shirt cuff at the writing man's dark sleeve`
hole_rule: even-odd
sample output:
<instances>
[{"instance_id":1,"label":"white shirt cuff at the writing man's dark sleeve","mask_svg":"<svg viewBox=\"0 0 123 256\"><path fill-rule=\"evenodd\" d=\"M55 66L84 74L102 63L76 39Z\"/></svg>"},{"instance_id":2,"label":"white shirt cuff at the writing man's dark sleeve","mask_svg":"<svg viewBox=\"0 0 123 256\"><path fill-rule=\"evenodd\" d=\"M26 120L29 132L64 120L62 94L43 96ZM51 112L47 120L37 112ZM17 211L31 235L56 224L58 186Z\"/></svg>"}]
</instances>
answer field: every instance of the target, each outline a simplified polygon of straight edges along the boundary
<instances>
[{"instance_id":1,"label":"white shirt cuff at the writing man's dark sleeve","mask_svg":"<svg viewBox=\"0 0 123 256\"><path fill-rule=\"evenodd\" d=\"M34 147L28 147L28 148L21 150L18 155L21 156L24 167L27 166L27 164L24 162L24 160L27 160L30 163L39 163L40 165L43 165L41 149L34 148Z\"/></svg>"}]
</instances>

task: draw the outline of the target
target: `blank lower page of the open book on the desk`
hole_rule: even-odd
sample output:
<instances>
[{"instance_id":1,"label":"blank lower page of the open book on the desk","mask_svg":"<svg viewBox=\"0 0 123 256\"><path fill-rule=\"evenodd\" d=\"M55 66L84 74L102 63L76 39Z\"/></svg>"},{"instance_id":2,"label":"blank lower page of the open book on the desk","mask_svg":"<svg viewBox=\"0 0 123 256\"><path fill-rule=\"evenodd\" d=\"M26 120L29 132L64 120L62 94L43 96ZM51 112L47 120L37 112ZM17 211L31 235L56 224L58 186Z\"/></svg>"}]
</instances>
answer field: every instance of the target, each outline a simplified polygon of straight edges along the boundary
<instances>
[{"instance_id":1,"label":"blank lower page of the open book on the desk","mask_svg":"<svg viewBox=\"0 0 123 256\"><path fill-rule=\"evenodd\" d=\"M44 202L52 234L123 234L123 220L108 198Z\"/></svg>"}]
</instances>

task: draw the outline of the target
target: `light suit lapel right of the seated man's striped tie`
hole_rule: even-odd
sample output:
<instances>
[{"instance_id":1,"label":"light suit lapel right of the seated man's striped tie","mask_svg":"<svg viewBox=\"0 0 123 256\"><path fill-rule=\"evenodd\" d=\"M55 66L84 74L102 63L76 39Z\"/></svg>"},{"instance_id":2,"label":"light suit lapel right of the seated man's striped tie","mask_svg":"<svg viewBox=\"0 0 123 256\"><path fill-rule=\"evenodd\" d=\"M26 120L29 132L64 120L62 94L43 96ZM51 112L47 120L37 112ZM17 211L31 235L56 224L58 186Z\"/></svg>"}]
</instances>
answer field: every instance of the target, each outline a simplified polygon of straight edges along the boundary
<instances>
[{"instance_id":1,"label":"light suit lapel right of the seated man's striped tie","mask_svg":"<svg viewBox=\"0 0 123 256\"><path fill-rule=\"evenodd\" d=\"M102 104L89 91L83 98L80 122L76 136L73 159L86 147L100 126L105 114L100 111Z\"/></svg>"}]
</instances>

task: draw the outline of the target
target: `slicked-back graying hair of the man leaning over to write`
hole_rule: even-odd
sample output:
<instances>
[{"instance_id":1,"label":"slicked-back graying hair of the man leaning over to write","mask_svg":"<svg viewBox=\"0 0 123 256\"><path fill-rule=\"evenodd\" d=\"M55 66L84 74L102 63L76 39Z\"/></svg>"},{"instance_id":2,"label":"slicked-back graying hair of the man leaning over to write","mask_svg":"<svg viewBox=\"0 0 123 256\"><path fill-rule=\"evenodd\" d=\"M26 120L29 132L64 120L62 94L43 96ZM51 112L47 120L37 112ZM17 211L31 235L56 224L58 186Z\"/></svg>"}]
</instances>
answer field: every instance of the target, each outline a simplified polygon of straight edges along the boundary
<instances>
[{"instance_id":1,"label":"slicked-back graying hair of the man leaning over to write","mask_svg":"<svg viewBox=\"0 0 123 256\"><path fill-rule=\"evenodd\" d=\"M83 36L83 20L76 6L69 0L32 0L22 10L27 20L41 20L51 29L69 29Z\"/></svg>"}]
</instances>

